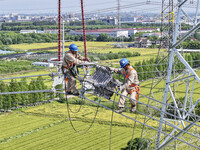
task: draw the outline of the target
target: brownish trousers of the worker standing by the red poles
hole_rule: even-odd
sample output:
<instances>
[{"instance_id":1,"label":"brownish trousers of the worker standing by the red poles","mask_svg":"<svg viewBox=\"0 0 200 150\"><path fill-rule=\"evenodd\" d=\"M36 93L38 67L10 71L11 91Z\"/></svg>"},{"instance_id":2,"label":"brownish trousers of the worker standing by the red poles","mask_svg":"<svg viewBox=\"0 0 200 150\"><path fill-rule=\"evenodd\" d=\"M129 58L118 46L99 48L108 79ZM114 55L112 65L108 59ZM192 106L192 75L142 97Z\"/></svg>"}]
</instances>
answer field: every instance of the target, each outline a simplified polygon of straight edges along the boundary
<instances>
[{"instance_id":1,"label":"brownish trousers of the worker standing by the red poles","mask_svg":"<svg viewBox=\"0 0 200 150\"><path fill-rule=\"evenodd\" d=\"M67 91L72 93L77 93L78 89L76 87L76 79L72 76L72 74L69 71L66 72L66 77L68 78L66 87Z\"/></svg>"}]
</instances>

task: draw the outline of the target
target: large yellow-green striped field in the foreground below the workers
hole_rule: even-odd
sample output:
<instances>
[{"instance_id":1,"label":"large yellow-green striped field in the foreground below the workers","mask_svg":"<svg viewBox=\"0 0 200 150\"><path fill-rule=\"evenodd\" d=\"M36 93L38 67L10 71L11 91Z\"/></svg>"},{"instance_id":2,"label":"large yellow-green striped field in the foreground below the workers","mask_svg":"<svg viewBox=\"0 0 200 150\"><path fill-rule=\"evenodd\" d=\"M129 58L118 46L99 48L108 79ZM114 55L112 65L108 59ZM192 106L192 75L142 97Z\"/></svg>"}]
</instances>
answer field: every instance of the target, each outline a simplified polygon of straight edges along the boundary
<instances>
[{"instance_id":1,"label":"large yellow-green striped field in the foreground below the workers","mask_svg":"<svg viewBox=\"0 0 200 150\"><path fill-rule=\"evenodd\" d=\"M76 111L79 106L70 104L70 108ZM96 107L83 105L80 112L70 113L74 128L79 132L86 131L94 119L96 110ZM66 104L58 102L1 115L0 126L4 128L0 130L0 149L109 149L111 113L100 107L93 126L85 134L78 134L73 130ZM123 114L135 118L133 113ZM143 122L144 116L137 114L137 120ZM148 125L157 128L158 122L151 120ZM111 148L120 150L126 147L132 138L133 127L134 121L114 113ZM142 128L141 124L136 123L134 138L141 136ZM155 130L150 131L151 135L156 134ZM146 138L151 138L151 135Z\"/></svg>"}]
</instances>

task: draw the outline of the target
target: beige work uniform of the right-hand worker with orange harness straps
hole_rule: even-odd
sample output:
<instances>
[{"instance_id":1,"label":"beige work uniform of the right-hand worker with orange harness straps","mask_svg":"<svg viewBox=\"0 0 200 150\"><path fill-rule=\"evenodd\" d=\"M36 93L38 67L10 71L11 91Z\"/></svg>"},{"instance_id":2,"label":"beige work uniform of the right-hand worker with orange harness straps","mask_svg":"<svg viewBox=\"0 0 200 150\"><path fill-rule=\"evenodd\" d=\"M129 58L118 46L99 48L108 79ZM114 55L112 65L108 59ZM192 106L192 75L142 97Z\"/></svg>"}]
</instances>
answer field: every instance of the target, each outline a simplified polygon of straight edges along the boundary
<instances>
[{"instance_id":1,"label":"beige work uniform of the right-hand worker with orange harness straps","mask_svg":"<svg viewBox=\"0 0 200 150\"><path fill-rule=\"evenodd\" d=\"M124 68L110 68L111 71L122 74L125 78L124 84L121 86L121 94L127 96L130 94L130 98L136 100L138 99L139 92L139 80L136 70L130 66L129 69L125 70ZM124 96L120 96L119 99L119 107L124 107L124 103L126 98ZM130 99L130 102L133 106L136 105L136 101Z\"/></svg>"}]
</instances>

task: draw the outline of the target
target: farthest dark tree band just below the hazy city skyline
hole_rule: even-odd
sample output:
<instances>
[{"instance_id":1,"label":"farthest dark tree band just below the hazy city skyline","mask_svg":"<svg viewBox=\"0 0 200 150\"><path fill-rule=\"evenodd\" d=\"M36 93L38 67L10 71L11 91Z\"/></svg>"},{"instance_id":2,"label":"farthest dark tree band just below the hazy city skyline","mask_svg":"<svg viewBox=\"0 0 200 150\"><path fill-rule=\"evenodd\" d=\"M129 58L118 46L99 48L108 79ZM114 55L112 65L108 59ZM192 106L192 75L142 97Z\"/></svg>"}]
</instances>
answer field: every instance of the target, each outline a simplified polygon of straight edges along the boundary
<instances>
[{"instance_id":1,"label":"farthest dark tree band just below the hazy city skyline","mask_svg":"<svg viewBox=\"0 0 200 150\"><path fill-rule=\"evenodd\" d=\"M111 25L107 22L102 22L101 20L86 20L86 29L108 29L117 28L117 25ZM160 23L123 23L122 28L161 28ZM56 21L30 21L30 22L11 22L2 23L0 25L2 31L20 31L20 30L43 30L43 29L58 29L58 23ZM190 25L182 23L182 30L188 30L191 28ZM65 30L81 30L82 21L71 21L65 24Z\"/></svg>"}]
</instances>

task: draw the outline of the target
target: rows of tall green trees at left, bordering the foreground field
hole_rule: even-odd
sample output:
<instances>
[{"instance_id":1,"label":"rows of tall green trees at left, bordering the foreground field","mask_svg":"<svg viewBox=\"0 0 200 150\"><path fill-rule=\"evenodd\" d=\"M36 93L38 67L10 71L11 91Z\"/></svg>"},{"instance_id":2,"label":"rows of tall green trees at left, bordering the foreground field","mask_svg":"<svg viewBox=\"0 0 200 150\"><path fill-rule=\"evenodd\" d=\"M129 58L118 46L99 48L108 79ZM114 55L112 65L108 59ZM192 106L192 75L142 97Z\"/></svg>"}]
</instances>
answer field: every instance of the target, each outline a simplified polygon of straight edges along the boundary
<instances>
[{"instance_id":1,"label":"rows of tall green trees at left, bordering the foreground field","mask_svg":"<svg viewBox=\"0 0 200 150\"><path fill-rule=\"evenodd\" d=\"M27 83L26 78L21 79L20 82L12 79L8 84L0 81L0 92L17 92L17 91L33 91L33 90L46 90L42 77L32 80ZM24 94L8 94L0 95L0 109L11 109L28 104L34 104L53 97L52 93L24 93Z\"/></svg>"}]
</instances>

